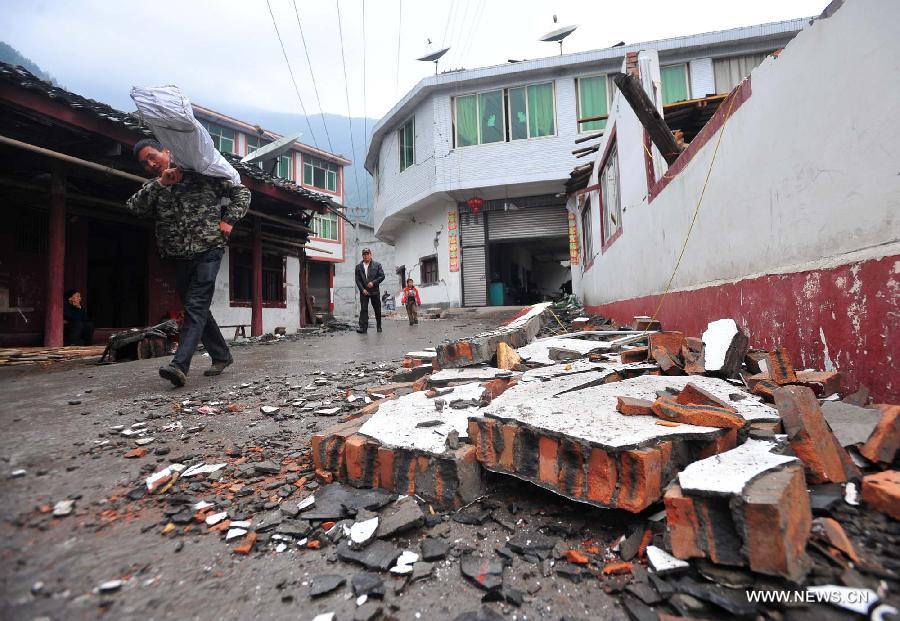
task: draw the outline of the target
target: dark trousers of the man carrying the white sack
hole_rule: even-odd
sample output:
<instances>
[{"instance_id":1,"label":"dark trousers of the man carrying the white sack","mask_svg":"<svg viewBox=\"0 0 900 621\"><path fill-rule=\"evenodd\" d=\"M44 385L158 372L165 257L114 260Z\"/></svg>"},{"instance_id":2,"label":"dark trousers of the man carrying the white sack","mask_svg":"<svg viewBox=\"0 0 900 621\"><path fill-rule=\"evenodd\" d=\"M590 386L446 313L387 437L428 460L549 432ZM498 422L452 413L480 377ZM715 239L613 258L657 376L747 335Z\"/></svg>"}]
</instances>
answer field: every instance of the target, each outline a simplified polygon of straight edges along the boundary
<instances>
[{"instance_id":1,"label":"dark trousers of the man carrying the white sack","mask_svg":"<svg viewBox=\"0 0 900 621\"><path fill-rule=\"evenodd\" d=\"M224 254L224 248L213 248L176 260L175 286L184 306L184 323L172 364L185 373L191 368L191 358L199 343L203 343L213 362L231 360L228 343L209 312Z\"/></svg>"}]
</instances>

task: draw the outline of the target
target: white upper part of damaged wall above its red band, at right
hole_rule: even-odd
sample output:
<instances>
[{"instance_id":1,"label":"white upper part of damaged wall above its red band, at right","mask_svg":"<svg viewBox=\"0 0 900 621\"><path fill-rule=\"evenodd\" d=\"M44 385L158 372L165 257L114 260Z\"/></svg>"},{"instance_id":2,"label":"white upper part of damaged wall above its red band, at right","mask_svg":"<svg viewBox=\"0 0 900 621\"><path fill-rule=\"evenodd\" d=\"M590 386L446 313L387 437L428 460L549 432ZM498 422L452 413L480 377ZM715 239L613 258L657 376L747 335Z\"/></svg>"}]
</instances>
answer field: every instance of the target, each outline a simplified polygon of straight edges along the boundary
<instances>
[{"instance_id":1,"label":"white upper part of damaged wall above its red band, at right","mask_svg":"<svg viewBox=\"0 0 900 621\"><path fill-rule=\"evenodd\" d=\"M900 3L848 1L753 71L752 96L724 127L674 290L841 264L849 253L896 254L898 21ZM860 84L877 85L864 105ZM587 272L573 268L573 284L589 305L664 290L719 137L648 203L642 130L626 103L614 102L612 124L624 232L600 254L595 195L597 256Z\"/></svg>"}]
</instances>

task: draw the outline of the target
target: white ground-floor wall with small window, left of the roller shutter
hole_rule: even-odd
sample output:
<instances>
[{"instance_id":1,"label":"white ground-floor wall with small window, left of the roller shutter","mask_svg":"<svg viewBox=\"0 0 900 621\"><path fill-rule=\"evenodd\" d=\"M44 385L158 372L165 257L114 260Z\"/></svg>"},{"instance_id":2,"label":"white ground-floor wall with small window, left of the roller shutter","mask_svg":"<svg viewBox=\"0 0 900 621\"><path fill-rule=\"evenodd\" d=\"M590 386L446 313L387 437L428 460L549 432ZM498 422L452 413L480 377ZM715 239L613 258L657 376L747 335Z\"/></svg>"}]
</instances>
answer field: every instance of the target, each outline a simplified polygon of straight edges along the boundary
<instances>
[{"instance_id":1,"label":"white ground-floor wall with small window, left of the roller shutter","mask_svg":"<svg viewBox=\"0 0 900 621\"><path fill-rule=\"evenodd\" d=\"M445 201L434 209L422 210L416 215L415 223L410 222L409 226L398 230L394 263L397 267L406 266L407 277L416 282L423 305L448 307L461 304L461 272L450 271L450 254L447 248L447 213L455 209L454 203ZM437 254L440 281L423 286L419 259L432 254ZM387 280L390 279L391 275L387 275ZM391 282L396 282L396 276ZM395 295L398 293L393 290L391 292Z\"/></svg>"}]
</instances>

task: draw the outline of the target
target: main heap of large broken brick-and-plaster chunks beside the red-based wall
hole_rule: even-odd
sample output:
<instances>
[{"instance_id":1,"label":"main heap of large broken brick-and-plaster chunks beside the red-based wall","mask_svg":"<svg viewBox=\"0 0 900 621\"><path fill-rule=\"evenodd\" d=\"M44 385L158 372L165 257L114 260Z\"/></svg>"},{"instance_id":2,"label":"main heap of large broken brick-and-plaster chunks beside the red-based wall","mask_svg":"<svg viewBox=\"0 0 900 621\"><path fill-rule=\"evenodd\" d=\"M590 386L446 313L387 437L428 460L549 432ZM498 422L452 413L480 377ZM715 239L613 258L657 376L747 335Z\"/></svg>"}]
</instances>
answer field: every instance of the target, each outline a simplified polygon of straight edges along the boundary
<instances>
[{"instance_id":1,"label":"main heap of large broken brick-and-plaster chunks beside the red-based wall","mask_svg":"<svg viewBox=\"0 0 900 621\"><path fill-rule=\"evenodd\" d=\"M574 325L584 329L534 339L556 321L549 311L532 307L512 327L408 354L404 366L420 370L414 392L386 395L365 420L318 434L317 472L443 511L487 493L485 472L605 509L662 506L618 558L569 550L555 565L569 577L588 567L627 576L622 603L636 619L655 606L696 613L678 603L687 598L752 616L760 608L743 593L722 594L734 574L793 590L868 585L873 605L879 585L884 594L878 579L896 582L858 557L841 576L825 571L842 545L856 553L833 538L817 543L813 516L859 506L861 489L865 506L896 519L897 472L883 469L895 464L900 408L869 406L860 393L840 401L839 373L796 370L784 349L751 350L751 335L730 319L690 337L649 318L632 330L581 318ZM827 507L823 485L837 486ZM552 547L535 559L552 558ZM504 600L504 554L460 570ZM673 574L692 577L668 584ZM836 580L823 584L824 575Z\"/></svg>"}]
</instances>

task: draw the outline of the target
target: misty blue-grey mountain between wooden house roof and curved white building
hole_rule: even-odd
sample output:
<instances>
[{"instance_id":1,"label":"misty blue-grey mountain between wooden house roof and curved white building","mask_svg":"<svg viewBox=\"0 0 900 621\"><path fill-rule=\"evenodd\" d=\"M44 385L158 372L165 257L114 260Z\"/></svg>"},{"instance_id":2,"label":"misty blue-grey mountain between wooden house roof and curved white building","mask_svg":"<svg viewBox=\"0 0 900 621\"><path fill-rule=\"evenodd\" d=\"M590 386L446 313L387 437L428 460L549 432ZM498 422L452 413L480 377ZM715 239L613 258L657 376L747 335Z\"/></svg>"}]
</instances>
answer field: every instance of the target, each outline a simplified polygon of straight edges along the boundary
<instances>
[{"instance_id":1,"label":"misty blue-grey mountain between wooden house roof and curved white building","mask_svg":"<svg viewBox=\"0 0 900 621\"><path fill-rule=\"evenodd\" d=\"M218 112L247 123L259 125L264 129L278 132L279 134L302 132L301 142L312 146L318 145L319 149L343 155L351 160L353 164L344 170L347 216L353 220L372 223L374 189L372 177L366 172L363 163L366 159L366 147L368 146L366 143L366 127L368 126L369 133L371 133L377 119L353 117L353 144L351 145L350 119L346 116L326 113L324 115L325 123L322 123L320 115L310 115L309 125L307 125L306 117L299 113L270 112L252 106L241 107L232 105L216 108L214 104L208 105ZM327 134L325 131L326 125L328 129ZM312 137L310 136L310 127L312 128ZM356 147L355 150L353 149L354 146ZM358 191L357 180L359 182Z\"/></svg>"}]
</instances>

